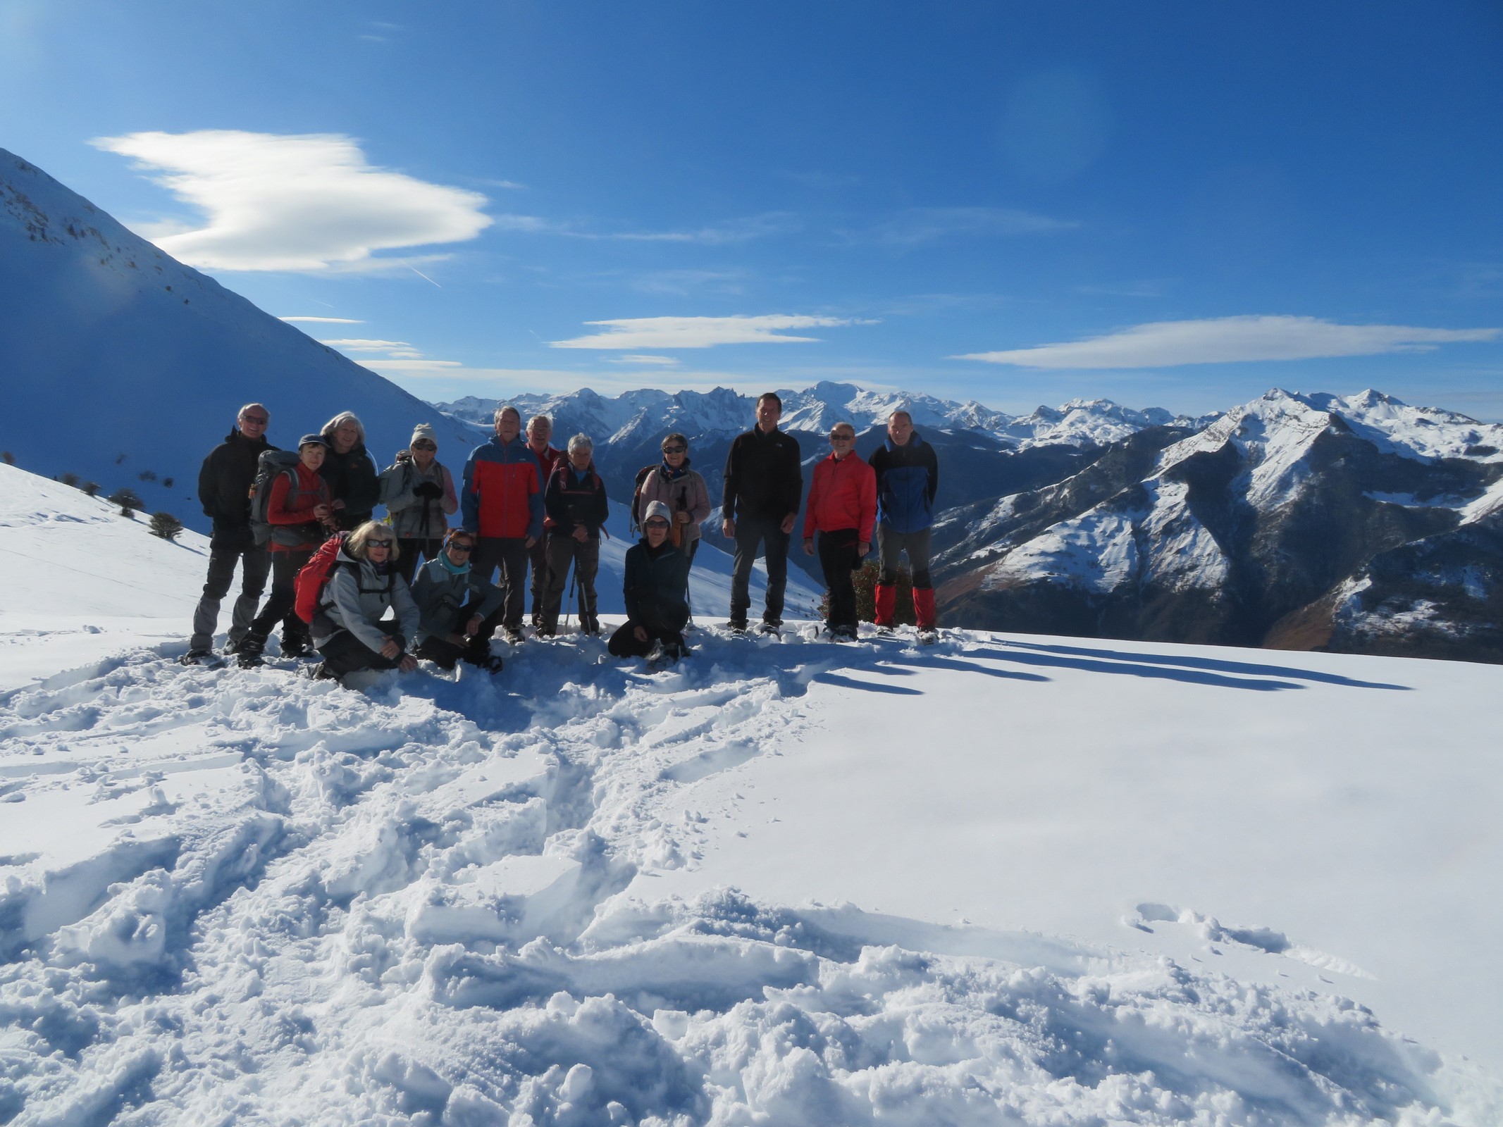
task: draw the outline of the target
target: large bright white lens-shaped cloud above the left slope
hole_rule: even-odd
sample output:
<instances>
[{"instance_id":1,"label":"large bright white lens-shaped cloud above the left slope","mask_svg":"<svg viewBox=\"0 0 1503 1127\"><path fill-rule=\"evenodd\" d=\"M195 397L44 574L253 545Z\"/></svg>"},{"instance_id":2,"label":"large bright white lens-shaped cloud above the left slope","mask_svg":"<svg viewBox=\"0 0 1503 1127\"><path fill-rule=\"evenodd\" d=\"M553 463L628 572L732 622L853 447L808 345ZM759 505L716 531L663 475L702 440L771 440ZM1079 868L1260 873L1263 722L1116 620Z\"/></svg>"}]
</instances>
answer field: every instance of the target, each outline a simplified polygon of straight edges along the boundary
<instances>
[{"instance_id":1,"label":"large bright white lens-shaped cloud above the left slope","mask_svg":"<svg viewBox=\"0 0 1503 1127\"><path fill-rule=\"evenodd\" d=\"M204 212L143 231L174 258L216 270L386 269L377 251L473 239L491 224L479 192L365 162L338 134L236 129L101 137L156 183Z\"/></svg>"}]
</instances>

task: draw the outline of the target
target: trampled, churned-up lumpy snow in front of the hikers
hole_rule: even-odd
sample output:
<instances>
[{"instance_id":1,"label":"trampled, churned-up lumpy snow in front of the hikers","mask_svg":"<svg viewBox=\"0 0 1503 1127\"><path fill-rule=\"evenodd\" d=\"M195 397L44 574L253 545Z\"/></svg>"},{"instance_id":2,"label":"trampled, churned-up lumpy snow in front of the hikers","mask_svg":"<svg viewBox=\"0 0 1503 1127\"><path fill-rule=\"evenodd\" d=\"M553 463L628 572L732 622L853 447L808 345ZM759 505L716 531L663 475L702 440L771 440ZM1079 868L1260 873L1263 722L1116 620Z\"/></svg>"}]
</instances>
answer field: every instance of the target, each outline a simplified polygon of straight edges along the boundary
<instances>
[{"instance_id":1,"label":"trampled, churned-up lumpy snow in front of the hikers","mask_svg":"<svg viewBox=\"0 0 1503 1127\"><path fill-rule=\"evenodd\" d=\"M657 673L559 642L364 694L138 651L6 697L0 754L72 769L0 808L110 816L0 893L0 1121L1495 1121L1495 1091L1345 999L621 896L697 863L702 814L664 798L795 754L822 673L918 660L699 639Z\"/></svg>"}]
</instances>

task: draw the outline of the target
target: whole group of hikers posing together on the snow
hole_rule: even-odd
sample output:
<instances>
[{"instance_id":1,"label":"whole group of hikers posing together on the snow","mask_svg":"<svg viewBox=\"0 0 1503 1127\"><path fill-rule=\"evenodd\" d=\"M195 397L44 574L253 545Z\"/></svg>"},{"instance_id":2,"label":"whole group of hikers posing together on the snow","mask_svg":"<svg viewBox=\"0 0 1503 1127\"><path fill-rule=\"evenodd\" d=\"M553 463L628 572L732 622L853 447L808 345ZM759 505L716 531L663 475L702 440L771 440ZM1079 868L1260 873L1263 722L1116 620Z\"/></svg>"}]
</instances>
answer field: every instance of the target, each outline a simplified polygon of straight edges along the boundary
<instances>
[{"instance_id":1,"label":"whole group of hikers posing together on the snow","mask_svg":"<svg viewBox=\"0 0 1503 1127\"><path fill-rule=\"evenodd\" d=\"M747 630L758 554L767 560L761 628L782 628L803 496L798 443L777 428L782 410L776 392L762 395L756 425L726 457L721 530L735 542L729 628L736 633ZM262 664L280 625L283 657L317 651L319 678L410 670L418 660L499 672L502 658L490 642L497 631L508 642L523 640L528 586L534 634L550 637L559 630L570 576L579 591L579 628L598 634L595 577L609 503L594 443L576 434L558 449L546 415L523 431L511 406L496 410L494 424L494 437L470 451L455 488L428 424L415 427L407 448L377 472L365 428L350 412L304 434L296 451L283 451L266 439L271 412L260 403L240 407L198 475L213 532L183 664L221 661L213 634L236 567L240 594L224 652L246 667ZM857 637L852 571L873 536L881 564L876 625L894 622L899 557L906 553L918 630L935 628L929 530L938 464L908 412L893 412L887 433L867 461L855 455L855 427L836 424L831 452L813 470L803 547L819 556L830 592L825 622L836 640ZM627 621L607 643L616 657L678 660L688 652L688 576L700 523L711 514L709 490L690 467L684 434L664 437L661 454L636 479L631 512L642 538L625 556ZM377 521L380 505L388 515ZM460 520L451 527L455 512ZM268 577L271 594L262 603Z\"/></svg>"}]
</instances>

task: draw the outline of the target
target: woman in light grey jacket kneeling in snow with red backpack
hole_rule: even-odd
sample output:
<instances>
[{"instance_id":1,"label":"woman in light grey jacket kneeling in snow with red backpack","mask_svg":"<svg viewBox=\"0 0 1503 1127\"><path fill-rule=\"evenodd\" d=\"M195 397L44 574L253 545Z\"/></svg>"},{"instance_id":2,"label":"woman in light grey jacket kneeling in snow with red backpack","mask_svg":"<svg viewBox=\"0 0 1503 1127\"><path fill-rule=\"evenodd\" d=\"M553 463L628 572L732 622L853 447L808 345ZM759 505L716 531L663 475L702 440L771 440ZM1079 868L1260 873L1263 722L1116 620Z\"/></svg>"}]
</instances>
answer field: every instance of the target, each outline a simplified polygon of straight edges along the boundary
<instances>
[{"instance_id":1,"label":"woman in light grey jacket kneeling in snow with red backpack","mask_svg":"<svg viewBox=\"0 0 1503 1127\"><path fill-rule=\"evenodd\" d=\"M313 616L313 642L323 655L322 678L358 669L418 667L406 652L418 634L418 604L397 573L397 542L386 524L368 520L344 541ZM395 622L383 622L386 612ZM392 628L395 627L395 628Z\"/></svg>"}]
</instances>

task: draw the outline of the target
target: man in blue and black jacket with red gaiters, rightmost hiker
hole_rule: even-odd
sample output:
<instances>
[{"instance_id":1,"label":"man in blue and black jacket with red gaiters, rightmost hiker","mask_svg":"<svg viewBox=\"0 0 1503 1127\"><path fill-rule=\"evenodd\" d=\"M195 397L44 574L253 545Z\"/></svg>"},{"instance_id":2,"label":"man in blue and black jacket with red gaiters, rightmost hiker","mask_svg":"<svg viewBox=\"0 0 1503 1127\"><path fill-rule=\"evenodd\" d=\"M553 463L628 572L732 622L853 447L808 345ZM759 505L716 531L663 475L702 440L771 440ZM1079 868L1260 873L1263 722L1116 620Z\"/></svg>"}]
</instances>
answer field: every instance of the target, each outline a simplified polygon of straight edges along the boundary
<instances>
[{"instance_id":1,"label":"man in blue and black jacket with red gaiters, rightmost hiker","mask_svg":"<svg viewBox=\"0 0 1503 1127\"><path fill-rule=\"evenodd\" d=\"M887 442L869 458L876 470L876 625L893 625L897 607L897 557L908 553L914 571L914 615L920 633L935 628L935 592L929 580L929 529L935 523L939 463L935 448L918 437L914 416L887 416Z\"/></svg>"}]
</instances>

